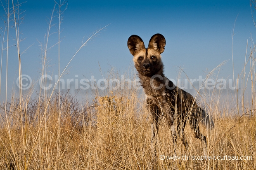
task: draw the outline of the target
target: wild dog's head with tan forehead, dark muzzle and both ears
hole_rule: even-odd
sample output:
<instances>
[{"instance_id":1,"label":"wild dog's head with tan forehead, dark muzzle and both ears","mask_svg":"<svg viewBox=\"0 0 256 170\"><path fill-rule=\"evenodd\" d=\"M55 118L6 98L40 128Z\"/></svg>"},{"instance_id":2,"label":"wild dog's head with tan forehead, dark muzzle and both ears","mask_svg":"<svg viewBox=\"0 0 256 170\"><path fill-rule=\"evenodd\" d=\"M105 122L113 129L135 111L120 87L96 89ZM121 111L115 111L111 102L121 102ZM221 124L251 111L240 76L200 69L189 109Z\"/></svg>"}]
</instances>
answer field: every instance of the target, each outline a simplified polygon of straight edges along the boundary
<instances>
[{"instance_id":1,"label":"wild dog's head with tan forehead, dark muzzle and both ears","mask_svg":"<svg viewBox=\"0 0 256 170\"><path fill-rule=\"evenodd\" d=\"M161 34L153 35L149 40L148 48L137 35L129 37L127 45L132 54L133 62L137 71L145 76L153 76L163 69L161 53L164 52L165 38Z\"/></svg>"}]
</instances>

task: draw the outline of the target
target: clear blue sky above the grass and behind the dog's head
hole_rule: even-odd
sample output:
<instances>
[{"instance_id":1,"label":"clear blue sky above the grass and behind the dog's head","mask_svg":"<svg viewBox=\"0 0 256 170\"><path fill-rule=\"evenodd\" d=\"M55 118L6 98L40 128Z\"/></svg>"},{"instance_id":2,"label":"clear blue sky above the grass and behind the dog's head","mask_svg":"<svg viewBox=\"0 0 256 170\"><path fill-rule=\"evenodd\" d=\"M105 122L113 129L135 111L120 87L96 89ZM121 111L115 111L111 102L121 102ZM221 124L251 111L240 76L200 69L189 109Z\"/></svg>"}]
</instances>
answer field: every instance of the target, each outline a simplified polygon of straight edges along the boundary
<instances>
[{"instance_id":1,"label":"clear blue sky above the grass and behind the dog's head","mask_svg":"<svg viewBox=\"0 0 256 170\"><path fill-rule=\"evenodd\" d=\"M5 0L2 0L5 5ZM21 1L20 1L21 3ZM22 74L33 80L40 77L40 43L44 43L47 33L48 19L54 7L54 0L28 0L21 5L21 16L24 21L20 26ZM232 31L235 75L240 74L251 38L255 37L256 28L251 17L249 0L142 0L142 1L99 1L70 0L61 25L62 42L60 44L61 71L81 46L83 37L90 36L108 24L87 46L75 56L70 63L69 73L64 79L90 78L94 75L101 79L111 67L121 73L130 70L132 55L127 47L130 35L139 35L147 46L155 33L166 38L162 59L165 74L170 79L177 79L179 67L183 68L189 78L206 77L223 61L228 62L221 67L219 77L232 77ZM0 9L0 27L4 29L5 13ZM57 13L55 13L57 15ZM237 19L236 19L237 18ZM235 23L236 21L236 23ZM58 23L57 16L53 20ZM56 25L57 26L57 25ZM57 29L53 26L51 33ZM10 30L14 37L14 30ZM2 44L3 34L0 42ZM11 39L11 38L10 38ZM49 47L58 41L58 35L49 38ZM6 42L5 42L6 43ZM9 43L15 44L15 41ZM50 59L48 68L50 75L58 72L57 46L48 51ZM248 57L248 56L247 56ZM8 59L8 94L12 93L18 77L18 60L15 46L9 48ZM6 54L4 51L2 65L2 82L0 98L5 96ZM100 64L100 66L99 66ZM14 87L15 88L15 87ZM17 88L15 88L17 91Z\"/></svg>"}]
</instances>

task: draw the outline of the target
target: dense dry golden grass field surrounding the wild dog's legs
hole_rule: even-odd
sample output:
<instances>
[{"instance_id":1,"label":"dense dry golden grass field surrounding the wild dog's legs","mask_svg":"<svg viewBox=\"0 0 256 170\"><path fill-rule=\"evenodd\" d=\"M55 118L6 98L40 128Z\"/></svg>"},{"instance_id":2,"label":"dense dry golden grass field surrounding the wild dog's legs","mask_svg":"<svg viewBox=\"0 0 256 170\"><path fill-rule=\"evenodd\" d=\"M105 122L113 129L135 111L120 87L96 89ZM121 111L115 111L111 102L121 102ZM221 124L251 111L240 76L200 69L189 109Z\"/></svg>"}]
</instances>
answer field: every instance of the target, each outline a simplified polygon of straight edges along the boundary
<instances>
[{"instance_id":1,"label":"dense dry golden grass field surrounding the wild dog's legs","mask_svg":"<svg viewBox=\"0 0 256 170\"><path fill-rule=\"evenodd\" d=\"M8 122L2 119L0 130L0 169L108 169L145 170L151 161L150 119L144 99L136 90L117 90L81 105L75 97L62 93L60 103L59 154L58 96L44 101L28 101L19 111L19 101L7 105ZM217 102L217 101L212 101ZM255 106L255 105L254 105ZM235 109L212 108L216 124L203 133L209 140L209 156L251 156L252 160L160 160L159 169L255 169L256 118L234 116ZM4 113L5 108L2 108ZM46 114L44 114L46 113ZM164 118L163 118L164 119ZM21 129L23 124L23 133ZM8 129L10 132L8 133ZM9 134L9 135L8 135ZM178 141L177 156L201 156L202 146L186 127L189 148ZM173 156L171 130L161 121L157 151L159 156ZM58 160L57 160L58 158ZM250 158L248 158L250 159Z\"/></svg>"}]
</instances>

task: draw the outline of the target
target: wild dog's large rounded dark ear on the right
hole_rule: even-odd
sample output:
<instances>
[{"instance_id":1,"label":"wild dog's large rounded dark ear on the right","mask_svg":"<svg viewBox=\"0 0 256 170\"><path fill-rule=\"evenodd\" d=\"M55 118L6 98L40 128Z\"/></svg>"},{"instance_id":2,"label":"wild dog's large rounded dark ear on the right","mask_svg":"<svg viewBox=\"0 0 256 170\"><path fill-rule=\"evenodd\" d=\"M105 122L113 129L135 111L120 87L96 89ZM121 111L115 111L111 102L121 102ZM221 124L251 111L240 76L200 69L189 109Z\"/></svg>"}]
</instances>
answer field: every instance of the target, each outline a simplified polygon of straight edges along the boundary
<instances>
[{"instance_id":1,"label":"wild dog's large rounded dark ear on the right","mask_svg":"<svg viewBox=\"0 0 256 170\"><path fill-rule=\"evenodd\" d=\"M165 47L165 38L161 34L155 34L153 35L149 40L149 49L154 49L158 51L160 54L164 52Z\"/></svg>"}]
</instances>

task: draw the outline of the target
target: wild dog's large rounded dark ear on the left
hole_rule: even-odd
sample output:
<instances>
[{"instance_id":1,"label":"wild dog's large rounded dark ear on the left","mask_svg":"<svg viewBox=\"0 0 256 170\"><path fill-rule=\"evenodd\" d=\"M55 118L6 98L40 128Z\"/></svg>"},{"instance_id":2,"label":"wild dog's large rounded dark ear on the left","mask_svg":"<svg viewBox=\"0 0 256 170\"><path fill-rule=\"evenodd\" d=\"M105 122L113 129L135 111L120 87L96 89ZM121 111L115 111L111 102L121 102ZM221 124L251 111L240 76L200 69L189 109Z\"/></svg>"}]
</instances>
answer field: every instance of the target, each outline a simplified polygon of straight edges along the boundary
<instances>
[{"instance_id":1,"label":"wild dog's large rounded dark ear on the left","mask_svg":"<svg viewBox=\"0 0 256 170\"><path fill-rule=\"evenodd\" d=\"M133 56L137 53L137 51L145 49L144 42L137 35L132 35L129 37L127 46L130 50L130 54L132 54Z\"/></svg>"}]
</instances>

